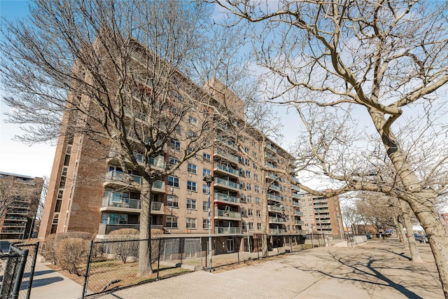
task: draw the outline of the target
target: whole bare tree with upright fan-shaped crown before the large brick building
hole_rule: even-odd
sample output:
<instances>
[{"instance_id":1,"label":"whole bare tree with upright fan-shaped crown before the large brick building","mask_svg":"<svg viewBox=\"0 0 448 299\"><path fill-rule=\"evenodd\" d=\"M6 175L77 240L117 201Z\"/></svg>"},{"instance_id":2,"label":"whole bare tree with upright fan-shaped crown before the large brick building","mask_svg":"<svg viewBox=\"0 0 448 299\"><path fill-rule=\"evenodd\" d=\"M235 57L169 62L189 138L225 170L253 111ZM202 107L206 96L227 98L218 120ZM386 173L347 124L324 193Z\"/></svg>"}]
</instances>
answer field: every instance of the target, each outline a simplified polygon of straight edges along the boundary
<instances>
[{"instance_id":1,"label":"whole bare tree with upright fan-shaped crown before the large brick building","mask_svg":"<svg viewBox=\"0 0 448 299\"><path fill-rule=\"evenodd\" d=\"M115 159L120 173L110 175L139 191L140 238L151 239L153 184L211 146L215 110L225 108L190 79L204 83L195 65L211 42L210 11L186 1L36 0L30 12L1 26L10 121L32 124L18 138L85 138ZM140 275L152 272L149 242Z\"/></svg>"}]
</instances>

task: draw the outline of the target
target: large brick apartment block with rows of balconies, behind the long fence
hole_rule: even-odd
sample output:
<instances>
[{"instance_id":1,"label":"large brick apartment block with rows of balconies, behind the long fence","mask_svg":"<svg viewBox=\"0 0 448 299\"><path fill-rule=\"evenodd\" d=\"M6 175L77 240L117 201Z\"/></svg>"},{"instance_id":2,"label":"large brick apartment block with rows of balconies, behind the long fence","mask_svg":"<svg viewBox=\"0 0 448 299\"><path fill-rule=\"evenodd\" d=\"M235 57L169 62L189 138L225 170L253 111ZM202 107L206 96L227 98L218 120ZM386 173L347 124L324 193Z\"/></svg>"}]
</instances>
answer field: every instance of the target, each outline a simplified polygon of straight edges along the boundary
<instances>
[{"instance_id":1,"label":"large brick apartment block with rows of balconies, behind the long fence","mask_svg":"<svg viewBox=\"0 0 448 299\"><path fill-rule=\"evenodd\" d=\"M182 93L176 97L185 99L207 92L216 105L225 101L233 108L235 126L245 126L241 99L219 81L209 84L214 86L214 91L225 90L222 95L226 97L197 86L190 89L190 95ZM201 126L200 114L186 115L185 127L179 131L192 125ZM63 122L70 121L76 120L66 113ZM198 152L174 174L153 183L151 228L166 234L206 235L209 190L203 179L214 176L210 190L211 228L215 236L222 237L219 244L222 241L223 251L235 250L233 236L261 232L263 195L267 195L269 204L269 234L302 234L299 189L285 176L262 171L257 164L262 161L272 169L288 169L288 176L294 178L293 156L269 139L261 138L262 134L253 129L237 137L225 124L214 125L211 130L216 134L209 148ZM244 151L235 146L235 138ZM186 141L174 134L166 144L165 154L151 157L152 167L165 169L176 164L186 146ZM134 153L134 157L143 159L139 153ZM137 174L132 174L132 178L137 183L143 180ZM125 182L113 148L99 148L83 134L59 137L39 238L69 231L92 232L104 237L120 228L139 229L140 212L140 193Z\"/></svg>"}]
</instances>

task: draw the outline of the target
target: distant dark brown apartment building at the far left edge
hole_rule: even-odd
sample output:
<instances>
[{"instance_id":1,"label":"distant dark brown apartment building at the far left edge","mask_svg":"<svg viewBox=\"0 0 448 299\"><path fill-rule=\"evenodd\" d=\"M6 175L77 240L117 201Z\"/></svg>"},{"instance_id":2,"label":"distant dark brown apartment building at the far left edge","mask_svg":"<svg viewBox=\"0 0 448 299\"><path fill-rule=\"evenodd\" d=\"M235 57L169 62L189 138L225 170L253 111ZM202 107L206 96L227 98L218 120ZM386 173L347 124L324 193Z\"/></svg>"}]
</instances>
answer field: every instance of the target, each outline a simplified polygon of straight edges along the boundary
<instances>
[{"instance_id":1,"label":"distant dark brown apartment building at the far left edge","mask_svg":"<svg viewBox=\"0 0 448 299\"><path fill-rule=\"evenodd\" d=\"M0 172L0 184L2 205L6 204L0 239L28 239L33 232L43 179Z\"/></svg>"}]
</instances>

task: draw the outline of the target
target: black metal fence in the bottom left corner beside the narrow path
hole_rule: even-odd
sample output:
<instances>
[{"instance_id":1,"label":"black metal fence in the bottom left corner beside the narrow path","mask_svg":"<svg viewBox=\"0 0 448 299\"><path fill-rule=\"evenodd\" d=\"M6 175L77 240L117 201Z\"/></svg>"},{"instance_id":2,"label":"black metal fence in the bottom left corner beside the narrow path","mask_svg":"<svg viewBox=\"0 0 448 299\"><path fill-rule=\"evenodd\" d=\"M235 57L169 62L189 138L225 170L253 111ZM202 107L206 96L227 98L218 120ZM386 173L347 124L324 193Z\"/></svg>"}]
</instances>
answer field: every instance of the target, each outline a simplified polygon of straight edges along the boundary
<instances>
[{"instance_id":1,"label":"black metal fence in the bottom left corner beside the narrow path","mask_svg":"<svg viewBox=\"0 0 448 299\"><path fill-rule=\"evenodd\" d=\"M38 246L38 243L11 244L9 252L1 256L1 299L30 297Z\"/></svg>"}]
</instances>

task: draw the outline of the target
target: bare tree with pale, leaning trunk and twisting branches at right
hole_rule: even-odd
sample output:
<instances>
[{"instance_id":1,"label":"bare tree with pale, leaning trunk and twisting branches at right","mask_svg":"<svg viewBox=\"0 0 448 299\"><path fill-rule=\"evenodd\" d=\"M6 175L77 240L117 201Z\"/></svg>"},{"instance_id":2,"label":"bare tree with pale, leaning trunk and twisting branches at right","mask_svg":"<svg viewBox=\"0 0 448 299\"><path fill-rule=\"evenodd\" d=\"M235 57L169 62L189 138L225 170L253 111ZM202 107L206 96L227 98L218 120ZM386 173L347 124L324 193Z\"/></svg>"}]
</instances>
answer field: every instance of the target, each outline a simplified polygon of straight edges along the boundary
<instances>
[{"instance_id":1,"label":"bare tree with pale, leaning trunk and twisting branches at right","mask_svg":"<svg viewBox=\"0 0 448 299\"><path fill-rule=\"evenodd\" d=\"M335 173L346 181L346 190L377 190L407 202L423 226L435 257L445 297L448 298L448 225L435 207L446 182L428 180L446 171L447 154L426 160L426 178L407 160L409 148L396 126L412 122L407 113L421 113L426 124L413 123L414 134L430 125L432 140L444 143L446 118L439 109L437 90L448 82L446 2L424 1L269 1L216 0L242 20L258 24L256 59L268 69L272 99L293 94L286 104L302 109L311 104L326 110L344 111L356 106L382 141L382 151L395 169L402 188L381 188L378 183L360 184L353 173ZM264 4L264 5L263 5ZM256 29L257 27L255 27ZM269 38L275 36L274 39ZM421 109L420 109L421 107ZM356 113L350 113L352 118ZM438 134L438 135L437 135ZM446 137L446 136L445 136ZM446 144L445 144L446 146ZM445 147L446 149L446 147ZM428 153L423 153L421 156ZM339 157L337 157L339 158ZM315 190L300 186L307 192Z\"/></svg>"}]
</instances>

